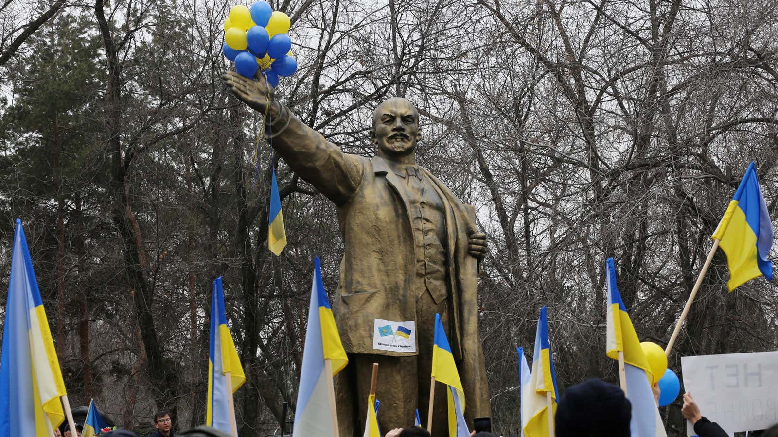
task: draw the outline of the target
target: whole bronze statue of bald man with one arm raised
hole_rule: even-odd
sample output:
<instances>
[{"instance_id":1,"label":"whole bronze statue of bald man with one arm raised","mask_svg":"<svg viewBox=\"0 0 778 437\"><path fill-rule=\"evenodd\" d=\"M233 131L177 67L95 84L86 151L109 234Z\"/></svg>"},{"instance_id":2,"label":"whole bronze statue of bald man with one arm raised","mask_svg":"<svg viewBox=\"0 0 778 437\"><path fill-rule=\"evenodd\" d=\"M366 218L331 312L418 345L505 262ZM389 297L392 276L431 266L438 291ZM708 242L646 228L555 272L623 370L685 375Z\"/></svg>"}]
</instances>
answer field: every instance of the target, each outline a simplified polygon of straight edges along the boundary
<instances>
[{"instance_id":1,"label":"whole bronze statue of bald man with one arm raised","mask_svg":"<svg viewBox=\"0 0 778 437\"><path fill-rule=\"evenodd\" d=\"M273 148L338 208L345 252L333 313L349 354L349 365L335 377L340 435L363 434L373 362L380 364L380 428L413 425L417 407L426 426L435 313L457 360L468 424L491 415L478 338L478 260L485 235L475 230L472 206L416 165L421 131L412 103L392 98L376 108L370 138L377 152L367 159L342 152L268 100L272 89L264 81L234 72L223 79L260 113L271 102L265 132ZM448 434L446 390L436 384L434 436Z\"/></svg>"}]
</instances>

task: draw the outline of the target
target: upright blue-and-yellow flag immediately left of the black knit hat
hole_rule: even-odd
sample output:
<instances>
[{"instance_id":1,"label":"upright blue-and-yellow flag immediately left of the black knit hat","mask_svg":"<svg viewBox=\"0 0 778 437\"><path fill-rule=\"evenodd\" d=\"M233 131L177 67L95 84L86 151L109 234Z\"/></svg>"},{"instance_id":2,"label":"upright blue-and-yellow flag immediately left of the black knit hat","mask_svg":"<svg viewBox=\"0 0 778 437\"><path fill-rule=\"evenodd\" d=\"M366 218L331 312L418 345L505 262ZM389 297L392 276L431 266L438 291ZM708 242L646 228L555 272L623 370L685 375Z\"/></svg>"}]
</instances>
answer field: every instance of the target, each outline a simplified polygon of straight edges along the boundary
<instances>
[{"instance_id":1,"label":"upright blue-and-yellow flag immediately left of the black knit hat","mask_svg":"<svg viewBox=\"0 0 778 437\"><path fill-rule=\"evenodd\" d=\"M548 342L548 320L545 306L540 309L538 330L535 331L534 355L529 383L522 384L521 421L526 437L552 437L548 429L548 405L546 394L551 393L552 417L556 414L556 372L554 370L551 343ZM526 403L526 407L525 407ZM526 414L524 414L526 412ZM526 417L526 418L525 418Z\"/></svg>"}]
</instances>

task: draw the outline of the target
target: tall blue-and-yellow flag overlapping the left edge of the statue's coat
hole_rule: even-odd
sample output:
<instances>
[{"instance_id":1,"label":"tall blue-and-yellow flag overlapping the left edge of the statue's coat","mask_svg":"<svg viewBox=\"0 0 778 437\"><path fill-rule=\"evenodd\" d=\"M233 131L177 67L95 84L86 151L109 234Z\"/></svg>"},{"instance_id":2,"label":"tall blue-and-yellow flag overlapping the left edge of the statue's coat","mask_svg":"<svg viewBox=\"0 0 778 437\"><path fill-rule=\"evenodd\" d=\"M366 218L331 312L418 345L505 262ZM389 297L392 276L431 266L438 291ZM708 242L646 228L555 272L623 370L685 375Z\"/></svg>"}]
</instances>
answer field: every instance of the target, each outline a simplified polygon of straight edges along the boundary
<instances>
[{"instance_id":1,"label":"tall blue-and-yellow flag overlapping the left edge of the statue's coat","mask_svg":"<svg viewBox=\"0 0 778 437\"><path fill-rule=\"evenodd\" d=\"M303 369L300 372L300 390L297 391L297 411L294 417L293 437L332 435L332 419L324 360L332 360L332 376L349 362L340 341L335 317L321 280L321 261L314 258L314 281L310 290L308 328L303 349Z\"/></svg>"}]
</instances>

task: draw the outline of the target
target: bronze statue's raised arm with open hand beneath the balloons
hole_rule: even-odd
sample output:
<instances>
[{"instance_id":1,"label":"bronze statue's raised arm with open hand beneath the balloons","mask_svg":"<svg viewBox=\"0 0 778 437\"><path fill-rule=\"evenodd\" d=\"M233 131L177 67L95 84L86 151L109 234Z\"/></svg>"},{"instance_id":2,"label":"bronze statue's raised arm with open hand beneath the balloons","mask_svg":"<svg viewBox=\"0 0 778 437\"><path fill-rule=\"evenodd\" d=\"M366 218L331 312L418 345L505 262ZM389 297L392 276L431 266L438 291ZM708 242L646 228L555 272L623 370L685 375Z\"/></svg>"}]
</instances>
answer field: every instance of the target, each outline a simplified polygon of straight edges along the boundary
<instances>
[{"instance_id":1,"label":"bronze statue's raised arm with open hand beneath the balloons","mask_svg":"<svg viewBox=\"0 0 778 437\"><path fill-rule=\"evenodd\" d=\"M222 76L235 96L260 114L269 105L270 123L265 136L289 167L316 187L335 205L351 198L362 180L364 166L358 156L343 153L337 145L300 121L289 109L275 101L273 90L263 81L254 81L227 72Z\"/></svg>"}]
</instances>

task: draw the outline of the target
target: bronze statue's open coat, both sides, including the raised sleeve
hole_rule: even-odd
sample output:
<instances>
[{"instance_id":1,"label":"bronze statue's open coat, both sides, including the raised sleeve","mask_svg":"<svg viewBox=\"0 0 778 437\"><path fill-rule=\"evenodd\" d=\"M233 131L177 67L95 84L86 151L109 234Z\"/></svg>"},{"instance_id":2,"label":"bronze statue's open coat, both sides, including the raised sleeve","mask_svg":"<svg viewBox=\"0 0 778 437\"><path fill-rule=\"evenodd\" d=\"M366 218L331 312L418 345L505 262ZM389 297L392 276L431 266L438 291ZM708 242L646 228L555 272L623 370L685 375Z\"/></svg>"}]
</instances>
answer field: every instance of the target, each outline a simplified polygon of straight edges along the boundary
<instances>
[{"instance_id":1,"label":"bronze statue's open coat, both sides, including the raised sleeve","mask_svg":"<svg viewBox=\"0 0 778 437\"><path fill-rule=\"evenodd\" d=\"M404 191L398 189L401 180L384 159L342 152L286 107L282 107L269 131L273 148L289 167L338 207L345 250L333 313L345 351L416 355L417 352L373 349L376 318L415 320L415 253L408 200L403 197ZM468 238L475 232L475 212L431 173L422 171L445 205L452 309L449 341L462 380L466 415L468 419L490 416L478 337L478 265L468 255Z\"/></svg>"}]
</instances>

